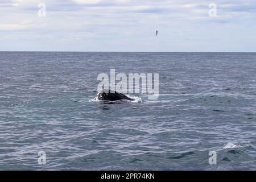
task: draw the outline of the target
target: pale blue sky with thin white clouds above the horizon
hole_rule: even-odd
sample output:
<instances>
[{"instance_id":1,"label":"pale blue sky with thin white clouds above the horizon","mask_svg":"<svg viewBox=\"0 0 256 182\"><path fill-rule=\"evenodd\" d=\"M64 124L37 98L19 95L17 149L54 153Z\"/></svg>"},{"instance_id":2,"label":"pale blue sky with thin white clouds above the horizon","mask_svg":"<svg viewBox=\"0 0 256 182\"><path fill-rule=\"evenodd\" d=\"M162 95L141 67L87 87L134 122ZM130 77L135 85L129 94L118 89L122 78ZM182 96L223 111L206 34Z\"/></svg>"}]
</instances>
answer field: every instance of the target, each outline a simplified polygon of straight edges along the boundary
<instances>
[{"instance_id":1,"label":"pale blue sky with thin white clouds above the horizon","mask_svg":"<svg viewBox=\"0 0 256 182\"><path fill-rule=\"evenodd\" d=\"M0 51L256 51L255 0L0 0L0 10Z\"/></svg>"}]
</instances>

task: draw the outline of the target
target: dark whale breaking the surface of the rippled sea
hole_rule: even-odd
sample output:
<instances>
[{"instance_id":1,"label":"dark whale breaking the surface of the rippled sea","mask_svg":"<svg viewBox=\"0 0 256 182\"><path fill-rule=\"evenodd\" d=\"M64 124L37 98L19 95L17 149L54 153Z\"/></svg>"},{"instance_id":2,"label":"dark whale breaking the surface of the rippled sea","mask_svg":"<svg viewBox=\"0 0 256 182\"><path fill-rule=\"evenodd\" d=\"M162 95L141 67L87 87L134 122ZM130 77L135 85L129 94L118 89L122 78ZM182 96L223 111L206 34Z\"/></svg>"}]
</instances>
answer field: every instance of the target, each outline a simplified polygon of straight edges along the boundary
<instances>
[{"instance_id":1,"label":"dark whale breaking the surface of the rippled sea","mask_svg":"<svg viewBox=\"0 0 256 182\"><path fill-rule=\"evenodd\" d=\"M97 94L97 96L94 98L94 100L100 100L100 101L119 101L119 100L128 100L128 101L134 101L133 98L127 97L122 93L113 92L111 90L102 90L100 93Z\"/></svg>"}]
</instances>

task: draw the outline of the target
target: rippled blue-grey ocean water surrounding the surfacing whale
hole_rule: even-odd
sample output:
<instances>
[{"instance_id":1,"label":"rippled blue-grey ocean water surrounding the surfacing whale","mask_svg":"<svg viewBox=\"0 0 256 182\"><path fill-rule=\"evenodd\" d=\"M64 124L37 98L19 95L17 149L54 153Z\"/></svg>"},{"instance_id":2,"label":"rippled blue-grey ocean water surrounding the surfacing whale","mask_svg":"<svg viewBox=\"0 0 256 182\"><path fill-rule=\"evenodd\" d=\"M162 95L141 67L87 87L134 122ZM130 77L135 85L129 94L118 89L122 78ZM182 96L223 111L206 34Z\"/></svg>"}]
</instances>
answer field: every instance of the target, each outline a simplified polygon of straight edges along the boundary
<instances>
[{"instance_id":1,"label":"rippled blue-grey ocean water surrounding the surfacing whale","mask_svg":"<svg viewBox=\"0 0 256 182\"><path fill-rule=\"evenodd\" d=\"M90 102L110 68L158 100ZM0 169L254 170L255 107L256 53L0 52Z\"/></svg>"}]
</instances>

